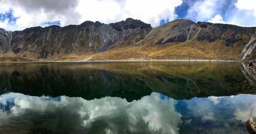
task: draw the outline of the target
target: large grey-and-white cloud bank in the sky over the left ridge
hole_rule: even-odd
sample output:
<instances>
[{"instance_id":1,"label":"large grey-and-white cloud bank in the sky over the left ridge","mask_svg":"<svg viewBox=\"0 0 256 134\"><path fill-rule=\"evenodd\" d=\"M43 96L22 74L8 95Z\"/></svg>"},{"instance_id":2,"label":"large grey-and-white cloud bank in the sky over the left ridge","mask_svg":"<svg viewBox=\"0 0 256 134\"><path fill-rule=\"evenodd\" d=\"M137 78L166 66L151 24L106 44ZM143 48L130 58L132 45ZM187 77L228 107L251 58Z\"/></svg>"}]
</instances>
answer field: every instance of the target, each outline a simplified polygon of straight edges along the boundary
<instances>
[{"instance_id":1,"label":"large grey-and-white cloud bank in the sky over the left ridge","mask_svg":"<svg viewBox=\"0 0 256 134\"><path fill-rule=\"evenodd\" d=\"M44 22L57 20L60 20L61 26L80 24L86 20L109 24L127 17L140 19L155 27L161 19L175 19L175 7L181 3L182 0L0 0L0 13L12 9L13 15L18 17L16 26L8 24L3 27L7 30L42 26Z\"/></svg>"}]
</instances>

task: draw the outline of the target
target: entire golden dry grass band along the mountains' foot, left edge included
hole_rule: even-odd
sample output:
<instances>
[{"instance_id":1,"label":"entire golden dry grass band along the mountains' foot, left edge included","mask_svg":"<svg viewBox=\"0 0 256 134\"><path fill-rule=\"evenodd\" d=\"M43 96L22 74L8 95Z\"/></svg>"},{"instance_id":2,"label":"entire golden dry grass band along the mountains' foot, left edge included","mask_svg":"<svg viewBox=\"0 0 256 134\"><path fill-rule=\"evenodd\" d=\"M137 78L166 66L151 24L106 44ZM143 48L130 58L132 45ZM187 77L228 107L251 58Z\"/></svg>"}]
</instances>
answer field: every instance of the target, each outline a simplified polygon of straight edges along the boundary
<instances>
[{"instance_id":1,"label":"entire golden dry grass band along the mountains' foot, left edge included","mask_svg":"<svg viewBox=\"0 0 256 134\"><path fill-rule=\"evenodd\" d=\"M189 40L185 42L165 43L160 46L152 43L133 44L129 47L112 47L102 53L65 54L56 55L47 59L28 58L36 57L31 53L20 56L0 57L1 62L11 61L82 61L90 60L126 60L126 59L218 59L240 60L241 42L233 46L225 46L222 40L215 42Z\"/></svg>"}]
</instances>

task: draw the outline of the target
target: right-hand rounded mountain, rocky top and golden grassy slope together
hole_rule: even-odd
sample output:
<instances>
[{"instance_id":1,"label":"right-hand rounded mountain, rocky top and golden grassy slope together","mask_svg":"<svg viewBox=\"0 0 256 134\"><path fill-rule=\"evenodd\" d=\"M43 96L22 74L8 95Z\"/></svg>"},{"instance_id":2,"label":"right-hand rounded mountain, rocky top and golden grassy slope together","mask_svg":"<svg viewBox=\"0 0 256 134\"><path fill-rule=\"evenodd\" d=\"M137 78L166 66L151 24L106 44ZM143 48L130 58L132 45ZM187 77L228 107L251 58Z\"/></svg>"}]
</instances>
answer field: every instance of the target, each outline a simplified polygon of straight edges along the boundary
<instances>
[{"instance_id":1,"label":"right-hand rounded mountain, rocky top and golden grassy slope together","mask_svg":"<svg viewBox=\"0 0 256 134\"><path fill-rule=\"evenodd\" d=\"M153 28L135 46L124 49L111 49L111 46L110 52L96 54L92 59L103 60L103 55L108 59L123 59L127 55L155 59L255 59L255 31L256 28L227 24L174 20Z\"/></svg>"}]
</instances>

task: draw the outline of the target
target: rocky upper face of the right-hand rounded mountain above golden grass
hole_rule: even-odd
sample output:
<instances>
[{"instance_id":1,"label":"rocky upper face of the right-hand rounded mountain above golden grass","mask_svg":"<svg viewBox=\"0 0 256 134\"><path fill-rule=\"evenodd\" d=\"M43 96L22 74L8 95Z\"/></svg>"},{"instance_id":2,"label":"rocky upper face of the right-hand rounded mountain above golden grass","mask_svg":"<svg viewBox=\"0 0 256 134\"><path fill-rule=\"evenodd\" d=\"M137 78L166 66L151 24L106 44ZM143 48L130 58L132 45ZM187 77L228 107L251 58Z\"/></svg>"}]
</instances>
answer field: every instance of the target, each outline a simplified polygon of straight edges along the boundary
<instances>
[{"instance_id":1,"label":"rocky upper face of the right-hand rounded mountain above golden grass","mask_svg":"<svg viewBox=\"0 0 256 134\"><path fill-rule=\"evenodd\" d=\"M144 42L155 45L165 43L193 42L214 43L216 53L222 48L230 50L238 59L256 58L256 28L246 28L227 24L194 23L191 20L174 20L166 25L154 28ZM207 46L206 46L207 47ZM239 50L236 50L239 49ZM237 53L236 51L239 51ZM225 56L225 55L223 55Z\"/></svg>"}]
</instances>

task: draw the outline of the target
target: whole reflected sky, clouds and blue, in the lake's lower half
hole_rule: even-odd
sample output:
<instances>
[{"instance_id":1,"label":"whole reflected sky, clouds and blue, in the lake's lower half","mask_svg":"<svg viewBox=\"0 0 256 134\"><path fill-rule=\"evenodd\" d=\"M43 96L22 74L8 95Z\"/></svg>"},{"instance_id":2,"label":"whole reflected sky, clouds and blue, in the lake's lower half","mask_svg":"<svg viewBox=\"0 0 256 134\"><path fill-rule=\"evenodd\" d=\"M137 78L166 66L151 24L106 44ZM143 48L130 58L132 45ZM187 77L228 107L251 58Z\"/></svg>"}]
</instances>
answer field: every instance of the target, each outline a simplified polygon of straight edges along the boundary
<instances>
[{"instance_id":1,"label":"whole reflected sky, clouds and blue, in the lake's lower half","mask_svg":"<svg viewBox=\"0 0 256 134\"><path fill-rule=\"evenodd\" d=\"M152 93L127 102L8 93L0 96L0 133L245 133L255 107L255 95L175 100Z\"/></svg>"}]
</instances>

